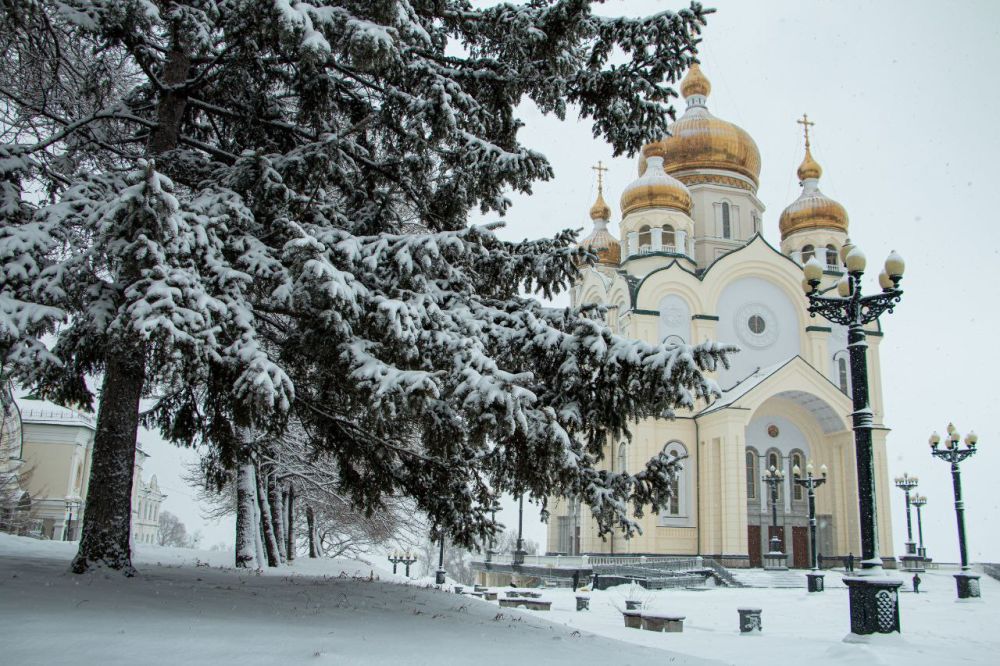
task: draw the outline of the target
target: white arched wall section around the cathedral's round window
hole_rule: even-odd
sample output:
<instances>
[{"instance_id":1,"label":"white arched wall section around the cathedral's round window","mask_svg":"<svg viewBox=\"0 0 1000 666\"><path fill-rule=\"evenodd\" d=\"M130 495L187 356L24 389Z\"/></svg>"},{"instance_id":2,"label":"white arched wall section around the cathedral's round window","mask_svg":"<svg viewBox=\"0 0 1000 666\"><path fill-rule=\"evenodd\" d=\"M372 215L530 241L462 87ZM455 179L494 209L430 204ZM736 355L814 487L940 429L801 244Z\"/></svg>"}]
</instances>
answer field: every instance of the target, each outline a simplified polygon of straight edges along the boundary
<instances>
[{"instance_id":1,"label":"white arched wall section around the cathedral's round window","mask_svg":"<svg viewBox=\"0 0 1000 666\"><path fill-rule=\"evenodd\" d=\"M759 277L729 284L719 297L719 342L739 345L728 370L719 373L723 388L799 354L799 313L777 285Z\"/></svg>"}]
</instances>

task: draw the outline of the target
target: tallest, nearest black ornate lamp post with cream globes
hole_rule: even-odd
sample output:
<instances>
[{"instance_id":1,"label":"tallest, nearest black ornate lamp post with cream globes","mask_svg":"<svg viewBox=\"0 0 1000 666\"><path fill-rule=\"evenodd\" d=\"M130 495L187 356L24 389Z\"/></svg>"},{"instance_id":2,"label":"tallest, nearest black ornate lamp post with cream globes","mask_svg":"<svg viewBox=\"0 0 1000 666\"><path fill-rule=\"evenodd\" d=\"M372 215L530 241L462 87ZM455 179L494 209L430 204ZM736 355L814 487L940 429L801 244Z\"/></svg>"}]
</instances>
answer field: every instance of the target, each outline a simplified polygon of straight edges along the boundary
<instances>
[{"instance_id":1,"label":"tallest, nearest black ornate lamp post with cream globes","mask_svg":"<svg viewBox=\"0 0 1000 666\"><path fill-rule=\"evenodd\" d=\"M837 295L825 296L819 291L824 267L816 257L806 262L803 288L809 299L809 314L823 315L827 320L847 327L847 349L851 363L851 413L854 430L855 464L858 477L858 513L861 527L861 571L856 577L845 577L850 589L851 632L867 635L899 631L899 587L902 580L885 578L878 548L878 515L875 504L875 455L872 445L871 405L868 399L868 343L865 326L885 312L892 312L903 296L899 281L905 267L895 252L885 261L879 275L882 293L861 295L861 278L865 259L860 248L850 240L840 250L840 259L847 271L837 283Z\"/></svg>"}]
</instances>

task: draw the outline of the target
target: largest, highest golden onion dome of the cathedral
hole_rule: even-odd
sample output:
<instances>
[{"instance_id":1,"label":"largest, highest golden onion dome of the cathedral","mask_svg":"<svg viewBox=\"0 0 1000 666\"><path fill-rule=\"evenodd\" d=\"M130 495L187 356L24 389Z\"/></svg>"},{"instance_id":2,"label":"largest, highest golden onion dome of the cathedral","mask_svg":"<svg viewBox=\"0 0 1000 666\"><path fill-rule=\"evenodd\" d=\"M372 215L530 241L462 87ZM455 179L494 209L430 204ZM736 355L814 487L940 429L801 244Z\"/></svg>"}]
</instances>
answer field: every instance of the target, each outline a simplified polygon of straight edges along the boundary
<instances>
[{"instance_id":1,"label":"largest, highest golden onion dome of the cathedral","mask_svg":"<svg viewBox=\"0 0 1000 666\"><path fill-rule=\"evenodd\" d=\"M667 172L693 184L702 182L704 178L695 178L684 172L695 169L731 171L749 179L753 183L752 189L756 191L760 183L760 151L757 144L741 127L709 113L706 103L712 84L697 63L691 65L680 88L687 101L687 110L670 126L670 136L657 142L662 146L663 165ZM654 145L647 145L643 155L648 157L648 149ZM642 174L645 168L645 160L641 160L639 173ZM722 182L726 185L742 183L724 178Z\"/></svg>"}]
</instances>

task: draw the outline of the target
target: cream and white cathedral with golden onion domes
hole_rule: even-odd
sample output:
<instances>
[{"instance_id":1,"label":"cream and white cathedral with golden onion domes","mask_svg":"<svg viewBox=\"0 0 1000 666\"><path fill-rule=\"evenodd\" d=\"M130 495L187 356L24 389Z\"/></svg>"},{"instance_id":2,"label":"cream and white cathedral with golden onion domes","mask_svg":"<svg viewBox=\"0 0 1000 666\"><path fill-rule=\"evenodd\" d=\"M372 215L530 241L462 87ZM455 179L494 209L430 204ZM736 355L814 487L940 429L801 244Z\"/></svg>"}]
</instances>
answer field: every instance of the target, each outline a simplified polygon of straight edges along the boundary
<instances>
[{"instance_id":1,"label":"cream and white cathedral with golden onion domes","mask_svg":"<svg viewBox=\"0 0 1000 666\"><path fill-rule=\"evenodd\" d=\"M761 235L760 152L753 138L708 108L711 85L698 65L681 82L687 109L670 136L646 145L638 176L621 193L621 222L598 170L593 231L581 243L599 257L582 266L573 305L609 306L608 323L649 342L733 343L731 366L713 374L721 397L632 427L631 441L609 441L601 463L639 469L665 451L682 459L669 506L640 520L642 534L598 536L586 506L550 502L550 553L702 555L725 566L759 567L778 538L787 565L808 567L808 502L792 482L797 466L827 482L816 491L817 552L832 562L861 553L846 328L811 318L802 266L824 266L822 289L836 284L847 211L819 188L807 117L802 191L781 213L781 242ZM598 166L599 169L600 165ZM875 428L878 539L894 566L877 325L867 330ZM764 476L783 472L776 510ZM776 524L774 524L776 523ZM773 545L773 544L772 544Z\"/></svg>"}]
</instances>

